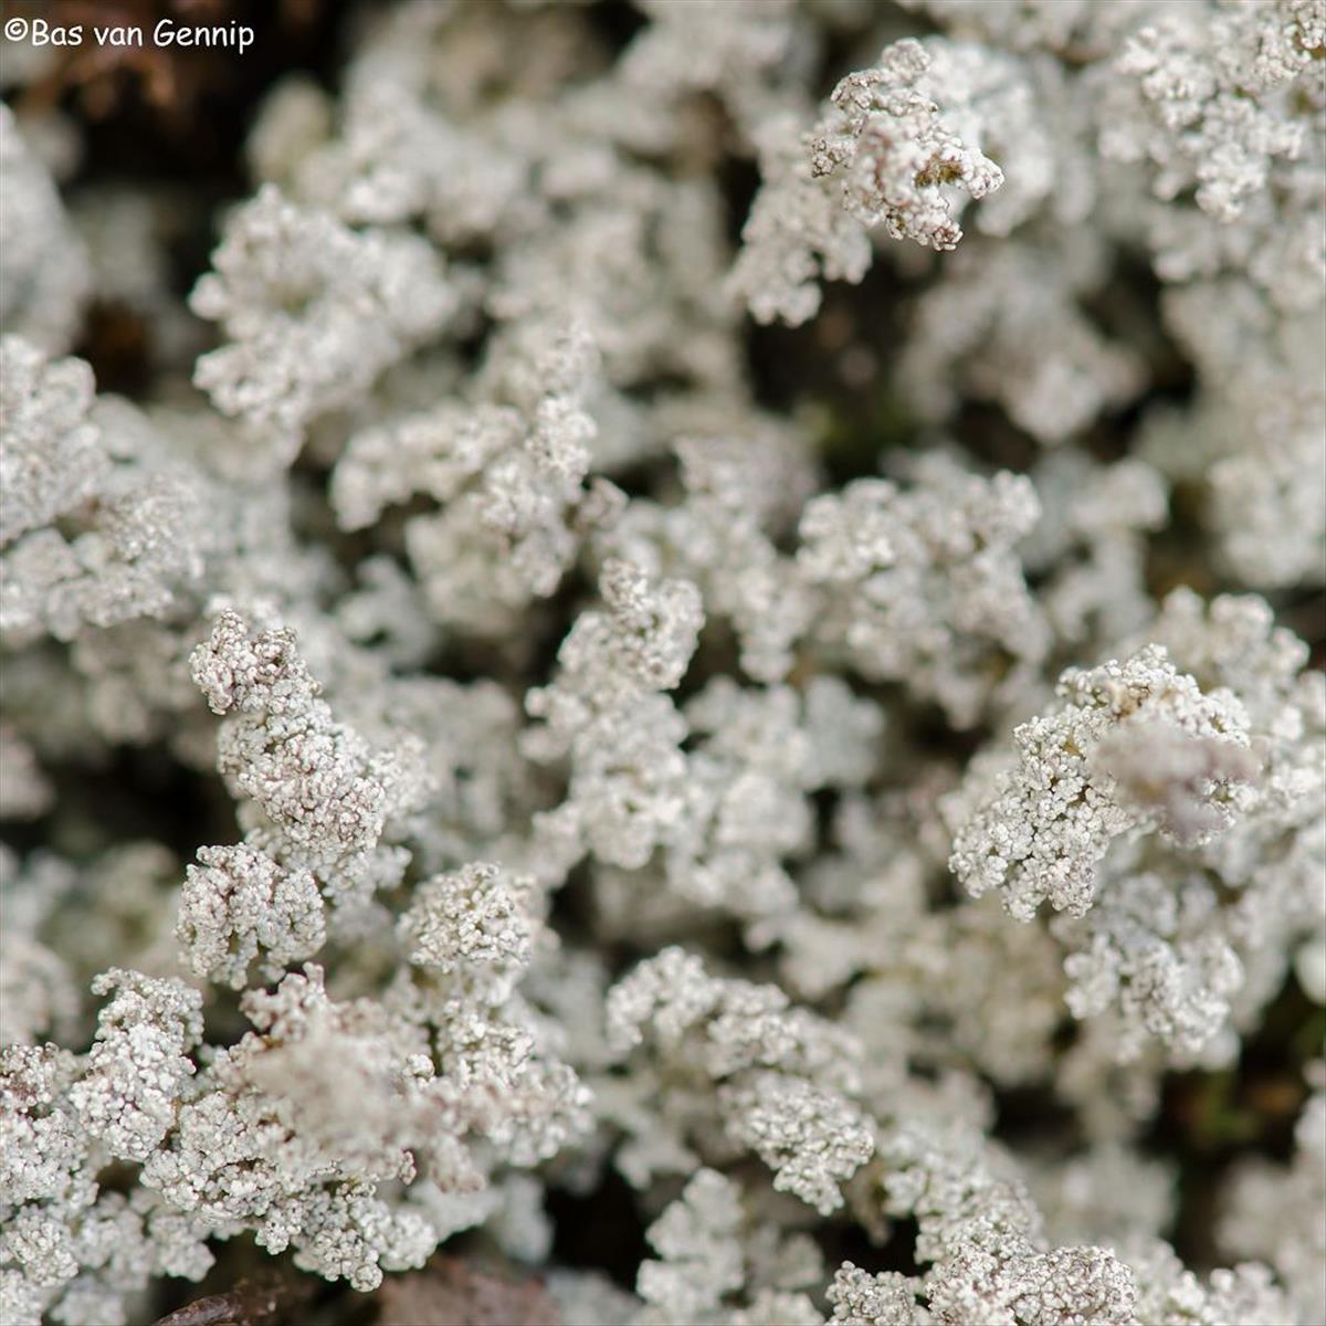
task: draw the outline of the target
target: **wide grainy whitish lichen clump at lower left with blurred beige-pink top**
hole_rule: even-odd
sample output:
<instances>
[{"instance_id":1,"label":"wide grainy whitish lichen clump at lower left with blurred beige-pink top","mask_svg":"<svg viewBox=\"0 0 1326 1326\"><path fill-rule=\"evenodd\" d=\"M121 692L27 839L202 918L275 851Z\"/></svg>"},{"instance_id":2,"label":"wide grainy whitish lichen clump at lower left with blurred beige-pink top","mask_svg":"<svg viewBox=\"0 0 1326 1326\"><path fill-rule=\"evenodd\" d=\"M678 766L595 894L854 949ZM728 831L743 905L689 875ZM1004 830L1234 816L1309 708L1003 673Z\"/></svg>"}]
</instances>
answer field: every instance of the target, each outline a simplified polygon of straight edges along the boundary
<instances>
[{"instance_id":1,"label":"wide grainy whitish lichen clump at lower left with blurred beige-pink top","mask_svg":"<svg viewBox=\"0 0 1326 1326\"><path fill-rule=\"evenodd\" d=\"M447 1012L480 1041L468 1063L451 1046L446 1075L428 1052L426 1004L337 1004L321 968L249 992L243 1008L256 1030L216 1055L145 1181L213 1228L239 1223L273 1252L293 1246L298 1265L328 1278L371 1289L382 1269L422 1265L442 1237L426 1208L389 1201L379 1185L427 1164L432 1183L475 1191L484 1175L468 1134L529 1166L578 1127L569 1070L530 1055L528 1036L504 1048L496 1025L484 1045L477 1008Z\"/></svg>"}]
</instances>

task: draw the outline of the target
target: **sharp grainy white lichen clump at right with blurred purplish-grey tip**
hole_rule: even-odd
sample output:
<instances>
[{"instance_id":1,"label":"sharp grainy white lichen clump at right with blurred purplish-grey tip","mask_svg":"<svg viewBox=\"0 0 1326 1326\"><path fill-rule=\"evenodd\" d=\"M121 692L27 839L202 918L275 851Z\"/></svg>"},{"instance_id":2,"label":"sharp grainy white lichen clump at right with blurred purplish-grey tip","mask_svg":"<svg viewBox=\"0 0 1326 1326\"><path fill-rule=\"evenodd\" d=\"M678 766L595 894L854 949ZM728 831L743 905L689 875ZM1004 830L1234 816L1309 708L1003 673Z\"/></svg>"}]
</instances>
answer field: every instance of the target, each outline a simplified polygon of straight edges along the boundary
<instances>
[{"instance_id":1,"label":"sharp grainy white lichen clump at right with blurred purplish-grey tip","mask_svg":"<svg viewBox=\"0 0 1326 1326\"><path fill-rule=\"evenodd\" d=\"M998 888L1029 920L1046 899L1086 915L1114 838L1195 841L1227 827L1252 777L1248 717L1229 691L1203 693L1148 646L1059 678L1061 704L1014 732L1016 765L957 829L951 866L973 896Z\"/></svg>"}]
</instances>

